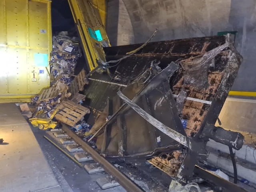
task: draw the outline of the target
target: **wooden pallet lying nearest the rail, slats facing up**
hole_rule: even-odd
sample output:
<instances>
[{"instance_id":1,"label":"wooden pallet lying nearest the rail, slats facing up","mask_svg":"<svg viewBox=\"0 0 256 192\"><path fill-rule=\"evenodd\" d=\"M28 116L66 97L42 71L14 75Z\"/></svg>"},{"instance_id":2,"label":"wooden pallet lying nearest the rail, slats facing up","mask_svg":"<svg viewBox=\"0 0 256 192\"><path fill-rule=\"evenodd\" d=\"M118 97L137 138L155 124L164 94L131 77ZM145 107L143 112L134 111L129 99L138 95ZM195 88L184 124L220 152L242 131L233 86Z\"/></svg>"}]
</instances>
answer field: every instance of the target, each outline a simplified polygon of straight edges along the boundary
<instances>
[{"instance_id":1,"label":"wooden pallet lying nearest the rail, slats facing up","mask_svg":"<svg viewBox=\"0 0 256 192\"><path fill-rule=\"evenodd\" d=\"M58 112L54 117L56 120L74 127L88 113L90 113L88 108L66 100L60 103Z\"/></svg>"}]
</instances>

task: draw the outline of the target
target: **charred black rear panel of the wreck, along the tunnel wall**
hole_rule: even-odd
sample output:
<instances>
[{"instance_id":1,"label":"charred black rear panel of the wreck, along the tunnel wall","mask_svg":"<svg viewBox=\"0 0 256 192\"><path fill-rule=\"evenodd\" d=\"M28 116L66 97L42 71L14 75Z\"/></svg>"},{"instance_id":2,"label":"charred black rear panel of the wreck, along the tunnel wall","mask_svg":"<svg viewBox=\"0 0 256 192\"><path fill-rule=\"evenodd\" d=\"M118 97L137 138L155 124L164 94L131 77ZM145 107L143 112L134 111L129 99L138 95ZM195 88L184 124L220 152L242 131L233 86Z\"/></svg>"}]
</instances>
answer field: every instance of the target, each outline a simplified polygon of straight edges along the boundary
<instances>
[{"instance_id":1,"label":"charred black rear panel of the wreck, along the tunnel wall","mask_svg":"<svg viewBox=\"0 0 256 192\"><path fill-rule=\"evenodd\" d=\"M106 72L101 74L94 73L90 78L128 85L148 69L151 62L155 59L160 61L159 66L164 68L172 61L187 59L192 55L201 55L224 43L224 36L198 37L148 43L134 55L120 61L118 65L113 63L110 68L111 75L108 75ZM127 52L141 45L142 44L105 47L106 61L124 57ZM120 88L122 87L90 80L90 84L86 86L86 90L84 91L86 95L85 104L90 106L92 110L98 114L102 112L106 106L106 98L112 98ZM95 115L95 113L91 115L90 123L93 123L95 121L94 116L97 117L97 115Z\"/></svg>"}]
</instances>

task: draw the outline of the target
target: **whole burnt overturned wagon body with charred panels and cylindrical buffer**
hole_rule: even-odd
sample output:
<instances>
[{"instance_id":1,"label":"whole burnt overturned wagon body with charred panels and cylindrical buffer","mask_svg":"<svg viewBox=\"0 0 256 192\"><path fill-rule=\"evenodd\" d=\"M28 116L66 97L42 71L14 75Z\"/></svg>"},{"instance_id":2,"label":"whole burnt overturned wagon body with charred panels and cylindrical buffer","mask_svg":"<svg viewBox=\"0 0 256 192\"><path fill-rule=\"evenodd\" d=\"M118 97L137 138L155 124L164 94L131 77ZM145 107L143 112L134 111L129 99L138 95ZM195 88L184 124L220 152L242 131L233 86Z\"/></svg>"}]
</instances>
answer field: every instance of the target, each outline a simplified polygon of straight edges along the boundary
<instances>
[{"instance_id":1,"label":"whole burnt overturned wagon body with charred panels and cylindrical buffer","mask_svg":"<svg viewBox=\"0 0 256 192\"><path fill-rule=\"evenodd\" d=\"M106 59L139 46L107 47ZM241 61L229 36L191 38L148 43L94 74L85 94L100 153L148 159L186 182L207 160L209 138L240 149L240 133L214 124Z\"/></svg>"}]
</instances>

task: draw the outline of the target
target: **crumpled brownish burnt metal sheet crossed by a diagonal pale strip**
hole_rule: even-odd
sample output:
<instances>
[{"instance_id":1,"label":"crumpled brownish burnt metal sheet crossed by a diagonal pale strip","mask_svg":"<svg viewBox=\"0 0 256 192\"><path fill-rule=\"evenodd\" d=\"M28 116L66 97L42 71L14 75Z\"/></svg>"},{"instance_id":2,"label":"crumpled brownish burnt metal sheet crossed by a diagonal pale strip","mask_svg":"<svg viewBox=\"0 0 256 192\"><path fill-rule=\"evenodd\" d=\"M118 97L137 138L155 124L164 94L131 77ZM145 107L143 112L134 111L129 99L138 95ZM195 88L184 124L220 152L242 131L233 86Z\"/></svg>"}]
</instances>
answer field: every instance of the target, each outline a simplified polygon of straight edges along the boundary
<instances>
[{"instance_id":1,"label":"crumpled brownish burnt metal sheet crossed by a diagonal pale strip","mask_svg":"<svg viewBox=\"0 0 256 192\"><path fill-rule=\"evenodd\" d=\"M150 70L148 72L150 76L147 72L144 73L132 84L122 89L122 92L128 98L134 99L136 104L158 121L172 127L186 138L186 133L178 117L174 98L170 97L169 78L175 75L178 69L178 65L171 63L159 73ZM171 100L174 106L170 106ZM91 133L94 133L94 130L101 126L105 118L115 113L122 104L123 101L118 96L114 97L112 106L108 104L104 110L108 112L102 114L103 118L101 117L96 121ZM112 112L110 112L110 109ZM102 123L99 123L100 121ZM101 137L103 138L99 139ZM98 149L106 156L149 156L158 153L158 151L169 151L168 147L173 150L174 146L180 148L179 143L150 125L129 106L120 110L115 120L108 123L104 133L98 136L97 140Z\"/></svg>"}]
</instances>

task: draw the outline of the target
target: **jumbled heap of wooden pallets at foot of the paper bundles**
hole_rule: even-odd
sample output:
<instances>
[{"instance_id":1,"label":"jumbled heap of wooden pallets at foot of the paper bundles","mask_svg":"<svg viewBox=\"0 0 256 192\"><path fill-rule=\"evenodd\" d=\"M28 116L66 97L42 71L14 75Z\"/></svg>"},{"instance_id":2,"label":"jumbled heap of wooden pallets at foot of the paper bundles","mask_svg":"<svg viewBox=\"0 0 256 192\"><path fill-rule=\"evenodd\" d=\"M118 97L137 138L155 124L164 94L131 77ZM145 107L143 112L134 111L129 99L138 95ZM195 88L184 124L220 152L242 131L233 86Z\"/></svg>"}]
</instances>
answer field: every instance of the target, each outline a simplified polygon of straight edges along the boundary
<instances>
[{"instance_id":1,"label":"jumbled heap of wooden pallets at foot of the paper bundles","mask_svg":"<svg viewBox=\"0 0 256 192\"><path fill-rule=\"evenodd\" d=\"M50 119L55 118L62 123L74 127L79 121L84 119L86 114L90 113L88 108L78 104L85 98L85 95L79 92L84 90L86 84L88 84L88 81L86 80L85 71L82 69L72 80L69 87L64 84L64 86L61 86L61 91L58 85L44 88L36 101L38 106L42 106L42 109L36 112L34 119L37 120L39 114L44 115L48 113ZM52 110L53 107L54 110Z\"/></svg>"}]
</instances>

